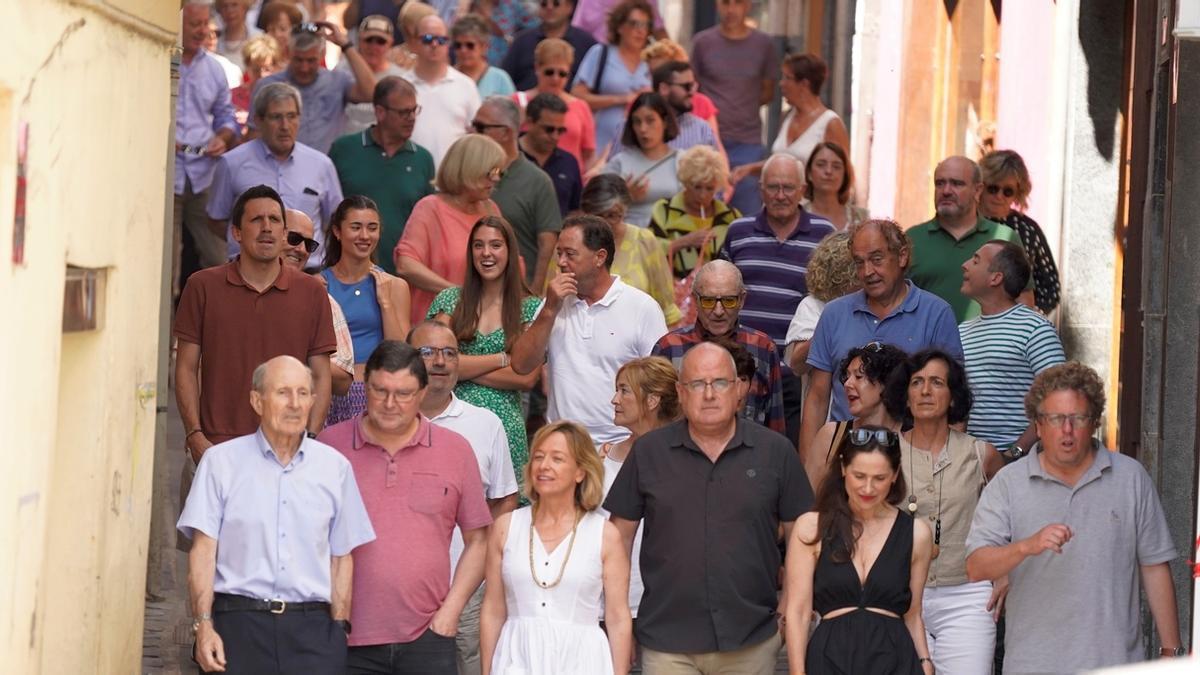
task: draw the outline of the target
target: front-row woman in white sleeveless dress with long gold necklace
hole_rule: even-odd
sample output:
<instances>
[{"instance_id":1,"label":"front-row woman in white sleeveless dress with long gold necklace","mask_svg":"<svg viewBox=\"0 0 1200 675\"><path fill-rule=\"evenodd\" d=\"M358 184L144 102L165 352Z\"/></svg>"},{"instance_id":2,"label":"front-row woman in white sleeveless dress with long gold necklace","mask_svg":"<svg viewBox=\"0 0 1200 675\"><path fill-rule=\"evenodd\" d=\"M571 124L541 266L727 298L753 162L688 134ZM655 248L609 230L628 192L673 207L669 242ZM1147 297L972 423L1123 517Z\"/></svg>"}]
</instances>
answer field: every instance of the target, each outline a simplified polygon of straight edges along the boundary
<instances>
[{"instance_id":1,"label":"front-row woman in white sleeveless dress with long gold necklace","mask_svg":"<svg viewBox=\"0 0 1200 675\"><path fill-rule=\"evenodd\" d=\"M480 613L482 674L625 675L630 667L629 554L595 510L604 467L587 431L548 424L524 470L530 506L488 534ZM605 631L600 629L601 592Z\"/></svg>"}]
</instances>

